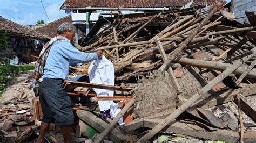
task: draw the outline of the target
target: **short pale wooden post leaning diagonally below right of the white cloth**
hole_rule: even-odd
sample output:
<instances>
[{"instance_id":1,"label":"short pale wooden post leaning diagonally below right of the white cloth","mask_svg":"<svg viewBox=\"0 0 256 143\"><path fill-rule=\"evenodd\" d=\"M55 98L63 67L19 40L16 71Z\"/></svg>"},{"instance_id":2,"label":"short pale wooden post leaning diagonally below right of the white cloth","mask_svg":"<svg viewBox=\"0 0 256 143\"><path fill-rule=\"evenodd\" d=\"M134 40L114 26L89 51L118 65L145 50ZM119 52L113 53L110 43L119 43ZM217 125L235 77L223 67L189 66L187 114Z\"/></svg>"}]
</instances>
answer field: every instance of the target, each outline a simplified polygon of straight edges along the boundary
<instances>
[{"instance_id":1,"label":"short pale wooden post leaning diagonally below right of the white cloth","mask_svg":"<svg viewBox=\"0 0 256 143\"><path fill-rule=\"evenodd\" d=\"M130 107L134 104L134 98L130 100L129 103L127 103L124 108L122 109L122 111L120 111L118 113L118 115L116 117L114 117L114 119L111 121L111 123L107 126L107 128L105 128L105 130L99 134L99 136L96 138L95 141L92 140L92 142L102 142L102 140L104 139L104 137L109 134L109 132L112 130L112 128L114 127L114 125L117 124L118 120L120 118L122 118L124 116L124 114L130 109Z\"/></svg>"}]
</instances>

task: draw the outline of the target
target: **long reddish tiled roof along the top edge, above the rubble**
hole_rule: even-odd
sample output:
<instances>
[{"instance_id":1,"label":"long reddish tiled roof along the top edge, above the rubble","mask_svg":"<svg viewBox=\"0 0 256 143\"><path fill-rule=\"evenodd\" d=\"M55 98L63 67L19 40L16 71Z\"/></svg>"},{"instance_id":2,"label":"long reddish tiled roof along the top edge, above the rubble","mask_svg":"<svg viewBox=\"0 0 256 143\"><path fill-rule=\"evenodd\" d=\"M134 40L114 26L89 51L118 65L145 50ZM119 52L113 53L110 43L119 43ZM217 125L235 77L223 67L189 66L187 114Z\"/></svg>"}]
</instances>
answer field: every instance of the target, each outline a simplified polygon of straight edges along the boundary
<instances>
[{"instance_id":1,"label":"long reddish tiled roof along the top edge, above the rubble","mask_svg":"<svg viewBox=\"0 0 256 143\"><path fill-rule=\"evenodd\" d=\"M169 6L181 7L190 0L66 0L62 8L120 7L120 8L163 8ZM207 5L213 5L218 0L207 0ZM205 0L194 0L193 5L205 5Z\"/></svg>"}]
</instances>

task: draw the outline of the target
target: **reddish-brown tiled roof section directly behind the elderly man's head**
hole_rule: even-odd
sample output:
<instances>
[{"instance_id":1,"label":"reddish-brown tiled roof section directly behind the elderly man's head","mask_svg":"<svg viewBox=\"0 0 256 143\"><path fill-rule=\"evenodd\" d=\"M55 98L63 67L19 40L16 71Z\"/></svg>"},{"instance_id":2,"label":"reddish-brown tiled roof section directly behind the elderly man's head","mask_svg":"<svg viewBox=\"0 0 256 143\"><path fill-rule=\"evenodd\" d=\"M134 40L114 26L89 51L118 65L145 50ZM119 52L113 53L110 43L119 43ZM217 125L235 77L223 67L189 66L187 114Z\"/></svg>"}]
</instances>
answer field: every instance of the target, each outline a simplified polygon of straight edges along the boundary
<instances>
[{"instance_id":1,"label":"reddish-brown tiled roof section directly behind the elderly man's head","mask_svg":"<svg viewBox=\"0 0 256 143\"><path fill-rule=\"evenodd\" d=\"M41 27L35 28L35 30L44 33L45 35L50 36L51 38L57 35L57 28L60 24L64 22L71 23L71 16L65 16L63 18L59 18L51 23L45 24Z\"/></svg>"}]
</instances>

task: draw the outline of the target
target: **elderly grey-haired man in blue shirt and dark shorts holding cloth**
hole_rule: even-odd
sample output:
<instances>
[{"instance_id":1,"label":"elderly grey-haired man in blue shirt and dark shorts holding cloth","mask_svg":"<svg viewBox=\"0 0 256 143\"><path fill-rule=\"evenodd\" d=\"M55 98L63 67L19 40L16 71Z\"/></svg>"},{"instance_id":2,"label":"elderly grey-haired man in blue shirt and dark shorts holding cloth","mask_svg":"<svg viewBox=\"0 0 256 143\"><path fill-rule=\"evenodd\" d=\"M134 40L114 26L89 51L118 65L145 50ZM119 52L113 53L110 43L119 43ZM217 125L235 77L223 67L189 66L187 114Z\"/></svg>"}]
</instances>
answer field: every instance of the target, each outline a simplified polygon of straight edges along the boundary
<instances>
[{"instance_id":1,"label":"elderly grey-haired man in blue shirt and dark shorts holding cloth","mask_svg":"<svg viewBox=\"0 0 256 143\"><path fill-rule=\"evenodd\" d=\"M102 57L102 51L84 53L70 43L75 35L75 26L62 23L39 59L45 59L43 73L39 79L39 101L42 105L43 118L37 142L44 142L44 135L50 123L60 126L65 142L70 142L70 125L73 124L71 99L62 88L68 78L71 61L89 62ZM45 57L46 56L46 57ZM41 60L42 62L42 60ZM36 69L35 69L36 71ZM35 76L34 76L35 77Z\"/></svg>"}]
</instances>

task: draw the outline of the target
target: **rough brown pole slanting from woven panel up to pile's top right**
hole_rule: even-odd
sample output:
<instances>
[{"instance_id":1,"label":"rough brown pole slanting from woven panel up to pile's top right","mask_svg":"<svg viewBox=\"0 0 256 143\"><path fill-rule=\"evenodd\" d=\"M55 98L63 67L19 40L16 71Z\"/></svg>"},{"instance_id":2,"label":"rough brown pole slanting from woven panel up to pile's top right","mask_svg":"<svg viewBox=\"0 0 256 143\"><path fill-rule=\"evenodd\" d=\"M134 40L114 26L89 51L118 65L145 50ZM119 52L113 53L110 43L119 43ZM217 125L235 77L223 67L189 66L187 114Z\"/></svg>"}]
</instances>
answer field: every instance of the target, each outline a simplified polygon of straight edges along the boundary
<instances>
[{"instance_id":1,"label":"rough brown pole slanting from woven panel up to pile's top right","mask_svg":"<svg viewBox=\"0 0 256 143\"><path fill-rule=\"evenodd\" d=\"M212 9L210 13L200 22L200 24L192 31L192 33L186 38L186 40L173 51L173 53L169 56L169 59L164 62L164 64L159 68L159 70L165 70L170 63L173 61L173 59L181 52L183 49L187 46L187 44L196 36L198 31L208 22L208 20L214 15L214 13L218 10L218 7L215 5L215 7Z\"/></svg>"}]
</instances>

